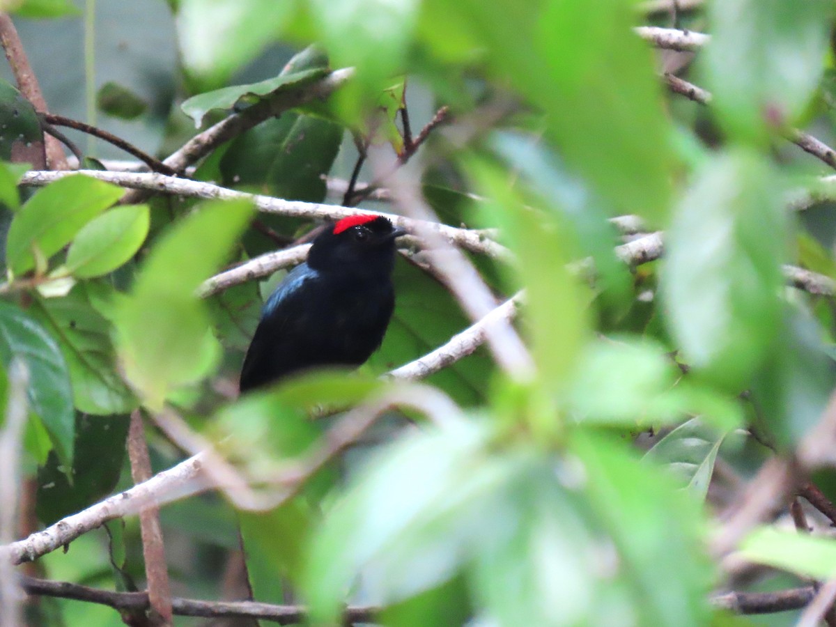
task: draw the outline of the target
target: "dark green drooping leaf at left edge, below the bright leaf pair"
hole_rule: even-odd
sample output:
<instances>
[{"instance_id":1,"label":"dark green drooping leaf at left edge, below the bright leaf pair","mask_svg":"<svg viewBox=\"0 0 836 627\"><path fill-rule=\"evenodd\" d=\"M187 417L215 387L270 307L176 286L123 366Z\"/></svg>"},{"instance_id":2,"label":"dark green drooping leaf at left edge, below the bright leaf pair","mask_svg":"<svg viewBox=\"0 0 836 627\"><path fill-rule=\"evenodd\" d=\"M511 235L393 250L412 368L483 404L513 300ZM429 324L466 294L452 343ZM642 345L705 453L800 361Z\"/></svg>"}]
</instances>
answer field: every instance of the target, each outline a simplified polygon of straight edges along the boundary
<instances>
[{"instance_id":1,"label":"dark green drooping leaf at left edge, below the bright leaf pair","mask_svg":"<svg viewBox=\"0 0 836 627\"><path fill-rule=\"evenodd\" d=\"M64 466L72 466L75 417L73 392L58 344L27 314L0 301L0 359L8 369L14 358L29 370L29 403L40 416Z\"/></svg>"}]
</instances>

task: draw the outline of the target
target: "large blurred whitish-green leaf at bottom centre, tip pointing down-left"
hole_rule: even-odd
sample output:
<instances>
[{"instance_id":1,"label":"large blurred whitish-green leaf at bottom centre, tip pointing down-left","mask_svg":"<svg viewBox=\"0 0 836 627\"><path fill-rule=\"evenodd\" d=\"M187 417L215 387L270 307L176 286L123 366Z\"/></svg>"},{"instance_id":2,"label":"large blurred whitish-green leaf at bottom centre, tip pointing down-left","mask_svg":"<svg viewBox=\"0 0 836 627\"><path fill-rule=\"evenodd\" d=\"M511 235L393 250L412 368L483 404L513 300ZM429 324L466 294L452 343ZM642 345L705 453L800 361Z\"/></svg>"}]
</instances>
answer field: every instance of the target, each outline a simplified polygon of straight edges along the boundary
<instances>
[{"instance_id":1,"label":"large blurred whitish-green leaf at bottom centre, tip pointing down-left","mask_svg":"<svg viewBox=\"0 0 836 627\"><path fill-rule=\"evenodd\" d=\"M314 537L303 584L314 621L337 619L359 573L375 602L396 602L451 579L474 541L507 533L512 466L484 446L482 428L462 424L405 438L369 462Z\"/></svg>"}]
</instances>

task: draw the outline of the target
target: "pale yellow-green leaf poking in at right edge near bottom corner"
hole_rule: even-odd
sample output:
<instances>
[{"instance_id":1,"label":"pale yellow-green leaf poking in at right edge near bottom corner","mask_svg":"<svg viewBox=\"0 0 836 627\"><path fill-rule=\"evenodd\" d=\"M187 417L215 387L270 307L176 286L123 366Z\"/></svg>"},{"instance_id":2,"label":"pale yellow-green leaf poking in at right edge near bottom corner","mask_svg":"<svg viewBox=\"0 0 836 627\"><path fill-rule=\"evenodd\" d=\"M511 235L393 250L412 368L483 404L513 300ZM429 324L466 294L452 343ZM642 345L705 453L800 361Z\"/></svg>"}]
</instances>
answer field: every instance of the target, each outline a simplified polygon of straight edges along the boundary
<instances>
[{"instance_id":1,"label":"pale yellow-green leaf poking in at right edge near bottom corner","mask_svg":"<svg viewBox=\"0 0 836 627\"><path fill-rule=\"evenodd\" d=\"M763 563L813 579L836 575L836 542L808 533L760 527L741 543L737 553L747 562Z\"/></svg>"}]
</instances>

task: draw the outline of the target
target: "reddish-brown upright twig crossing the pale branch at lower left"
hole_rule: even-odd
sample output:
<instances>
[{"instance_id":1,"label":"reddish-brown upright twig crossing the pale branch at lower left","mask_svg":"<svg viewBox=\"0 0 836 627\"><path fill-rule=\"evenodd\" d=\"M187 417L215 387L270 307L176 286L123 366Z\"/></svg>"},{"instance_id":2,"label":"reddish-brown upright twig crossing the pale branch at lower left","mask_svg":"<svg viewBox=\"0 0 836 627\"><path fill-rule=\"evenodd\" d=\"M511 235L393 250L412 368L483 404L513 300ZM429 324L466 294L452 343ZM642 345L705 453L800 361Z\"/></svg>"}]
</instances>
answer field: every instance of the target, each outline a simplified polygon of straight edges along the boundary
<instances>
[{"instance_id":1,"label":"reddish-brown upright twig crossing the pale branch at lower left","mask_svg":"<svg viewBox=\"0 0 836 627\"><path fill-rule=\"evenodd\" d=\"M137 485L147 482L153 473L140 410L134 410L130 414L127 446L130 476ZM166 545L162 538L160 510L154 505L140 510L140 536L142 556L145 558L145 579L148 582L151 624L171 624L171 585L166 566Z\"/></svg>"}]
</instances>

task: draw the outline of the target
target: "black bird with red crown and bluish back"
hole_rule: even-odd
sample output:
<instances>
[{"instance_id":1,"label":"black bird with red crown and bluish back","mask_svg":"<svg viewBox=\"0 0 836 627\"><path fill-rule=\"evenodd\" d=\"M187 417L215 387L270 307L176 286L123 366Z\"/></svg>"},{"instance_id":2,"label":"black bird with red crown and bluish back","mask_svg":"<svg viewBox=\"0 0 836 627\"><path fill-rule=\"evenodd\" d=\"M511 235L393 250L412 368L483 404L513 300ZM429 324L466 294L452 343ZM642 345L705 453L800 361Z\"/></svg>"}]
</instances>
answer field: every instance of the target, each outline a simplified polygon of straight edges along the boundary
<instances>
[{"instance_id":1,"label":"black bird with red crown and bluish back","mask_svg":"<svg viewBox=\"0 0 836 627\"><path fill-rule=\"evenodd\" d=\"M316 366L358 366L375 352L392 310L395 237L385 217L329 224L308 261L288 273L262 310L241 370L242 392Z\"/></svg>"}]
</instances>

